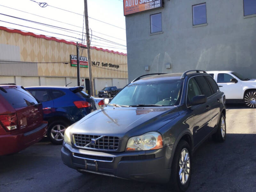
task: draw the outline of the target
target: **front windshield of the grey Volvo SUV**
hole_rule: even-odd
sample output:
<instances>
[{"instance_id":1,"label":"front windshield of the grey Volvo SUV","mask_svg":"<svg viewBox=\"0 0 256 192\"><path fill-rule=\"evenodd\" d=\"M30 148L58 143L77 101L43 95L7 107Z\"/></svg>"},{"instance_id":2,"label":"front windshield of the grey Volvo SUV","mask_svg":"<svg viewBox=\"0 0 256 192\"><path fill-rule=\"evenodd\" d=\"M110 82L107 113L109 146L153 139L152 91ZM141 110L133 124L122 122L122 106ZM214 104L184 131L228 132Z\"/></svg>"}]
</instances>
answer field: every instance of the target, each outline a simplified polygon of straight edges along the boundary
<instances>
[{"instance_id":1,"label":"front windshield of the grey Volvo SUV","mask_svg":"<svg viewBox=\"0 0 256 192\"><path fill-rule=\"evenodd\" d=\"M124 87L109 104L119 106L177 105L182 84L182 79L132 83Z\"/></svg>"}]
</instances>

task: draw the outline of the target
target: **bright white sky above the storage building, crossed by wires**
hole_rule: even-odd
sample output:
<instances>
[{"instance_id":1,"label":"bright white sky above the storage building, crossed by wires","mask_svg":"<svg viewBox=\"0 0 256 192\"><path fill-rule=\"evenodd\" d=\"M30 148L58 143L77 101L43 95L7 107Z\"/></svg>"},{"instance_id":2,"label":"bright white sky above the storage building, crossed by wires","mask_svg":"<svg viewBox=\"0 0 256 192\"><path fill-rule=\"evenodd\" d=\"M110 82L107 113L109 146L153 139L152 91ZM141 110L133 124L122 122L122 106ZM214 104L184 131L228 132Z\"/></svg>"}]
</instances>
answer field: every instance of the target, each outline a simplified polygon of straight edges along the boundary
<instances>
[{"instance_id":1,"label":"bright white sky above the storage building, crossed by wires","mask_svg":"<svg viewBox=\"0 0 256 192\"><path fill-rule=\"evenodd\" d=\"M36 2L33 2L31 0L8 0L8 1L1 0L0 1L0 26L19 29L22 31L28 31L28 32L32 32L40 35L56 37L58 39L65 39L68 41L74 41L78 43L82 42L82 38L84 40L85 37L82 35L83 22L84 22L84 17L82 16L84 14L84 0L73 0L73 1L71 0L35 0L35 1L38 3L47 3L48 6L40 7ZM123 1L122 0L87 0L87 2L88 2L89 28L92 30L92 31L90 30L90 35L92 34L91 46L96 46L103 49L127 53ZM70 12L63 11L54 7L68 10ZM25 13L25 12L28 12L28 13ZM78 14L75 14L72 12L76 12ZM32 15L29 13L36 14L45 18ZM1 14L5 14L9 16L5 16ZM30 21L20 20L10 16L14 16L14 17L18 17L18 18L26 19ZM50 18L52 20L49 20L46 18ZM54 20L61 21L64 23L57 22ZM109 23L111 25L100 22L98 20ZM62 29L33 23L31 21L36 21L43 24L60 27ZM22 26L15 25L15 24L19 24ZM68 24L71 24L71 25L68 25ZM27 28L24 26L27 26L30 28ZM41 30L38 30L38 29L41 29ZM73 31L70 31L70 30L73 30ZM85 33L85 24L84 24L84 33Z\"/></svg>"}]
</instances>

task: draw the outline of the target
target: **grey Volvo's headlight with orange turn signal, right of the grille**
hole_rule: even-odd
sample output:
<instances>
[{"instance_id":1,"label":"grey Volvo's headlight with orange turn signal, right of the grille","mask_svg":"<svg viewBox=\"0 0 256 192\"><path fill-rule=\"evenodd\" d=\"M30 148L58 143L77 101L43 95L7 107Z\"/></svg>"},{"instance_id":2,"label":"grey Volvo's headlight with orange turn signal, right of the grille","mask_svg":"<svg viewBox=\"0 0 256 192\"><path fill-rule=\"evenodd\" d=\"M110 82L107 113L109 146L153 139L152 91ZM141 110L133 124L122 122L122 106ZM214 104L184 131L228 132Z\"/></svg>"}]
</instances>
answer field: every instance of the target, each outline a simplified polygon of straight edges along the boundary
<instances>
[{"instance_id":1,"label":"grey Volvo's headlight with orange turn signal, right of the grille","mask_svg":"<svg viewBox=\"0 0 256 192\"><path fill-rule=\"evenodd\" d=\"M148 132L131 137L127 141L125 151L144 151L163 148L163 137L159 132Z\"/></svg>"}]
</instances>

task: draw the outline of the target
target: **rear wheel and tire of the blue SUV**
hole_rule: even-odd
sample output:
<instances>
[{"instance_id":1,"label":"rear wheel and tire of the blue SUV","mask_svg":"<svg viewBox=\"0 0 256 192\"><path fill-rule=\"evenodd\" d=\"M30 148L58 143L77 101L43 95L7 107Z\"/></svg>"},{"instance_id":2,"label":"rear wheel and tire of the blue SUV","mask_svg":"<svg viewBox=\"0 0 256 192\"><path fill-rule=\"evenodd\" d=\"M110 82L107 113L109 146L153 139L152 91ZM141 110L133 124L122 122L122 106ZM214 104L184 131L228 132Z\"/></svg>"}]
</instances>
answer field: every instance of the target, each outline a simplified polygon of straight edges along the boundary
<instances>
[{"instance_id":1,"label":"rear wheel and tire of the blue SUV","mask_svg":"<svg viewBox=\"0 0 256 192\"><path fill-rule=\"evenodd\" d=\"M64 132L68 126L68 123L64 120L56 120L49 124L47 136L53 144L62 144L64 140Z\"/></svg>"}]
</instances>

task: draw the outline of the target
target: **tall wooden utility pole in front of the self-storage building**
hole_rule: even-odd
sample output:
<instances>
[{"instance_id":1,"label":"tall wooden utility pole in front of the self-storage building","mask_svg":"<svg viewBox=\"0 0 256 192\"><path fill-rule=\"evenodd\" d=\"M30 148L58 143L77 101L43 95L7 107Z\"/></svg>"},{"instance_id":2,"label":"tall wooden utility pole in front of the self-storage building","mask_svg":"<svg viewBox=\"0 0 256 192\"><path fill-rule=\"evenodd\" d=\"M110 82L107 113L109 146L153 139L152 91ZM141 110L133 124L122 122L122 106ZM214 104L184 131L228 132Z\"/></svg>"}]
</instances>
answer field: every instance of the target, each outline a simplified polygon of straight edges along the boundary
<instances>
[{"instance_id":1,"label":"tall wooden utility pole in front of the self-storage building","mask_svg":"<svg viewBox=\"0 0 256 192\"><path fill-rule=\"evenodd\" d=\"M85 31L86 31L86 44L87 44L87 57L88 57L88 69L89 69L89 82L90 82L90 94L94 96L93 78L92 78L92 65L91 65L91 45L89 35L89 24L88 24L88 7L87 0L84 0L84 19L85 19Z\"/></svg>"}]
</instances>

